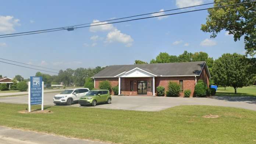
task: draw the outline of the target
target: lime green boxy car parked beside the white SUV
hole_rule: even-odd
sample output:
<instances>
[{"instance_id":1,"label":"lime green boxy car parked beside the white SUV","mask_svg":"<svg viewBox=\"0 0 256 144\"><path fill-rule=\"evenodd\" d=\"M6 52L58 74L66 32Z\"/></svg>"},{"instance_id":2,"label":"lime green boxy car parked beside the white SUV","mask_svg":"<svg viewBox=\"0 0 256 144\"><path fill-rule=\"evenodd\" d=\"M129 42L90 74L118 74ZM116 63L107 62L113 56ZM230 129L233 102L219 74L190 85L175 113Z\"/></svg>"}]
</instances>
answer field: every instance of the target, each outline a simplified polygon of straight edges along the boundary
<instances>
[{"instance_id":1,"label":"lime green boxy car parked beside the white SUV","mask_svg":"<svg viewBox=\"0 0 256 144\"><path fill-rule=\"evenodd\" d=\"M81 106L92 105L93 107L99 103L111 103L111 95L109 90L91 90L85 96L79 99Z\"/></svg>"}]
</instances>

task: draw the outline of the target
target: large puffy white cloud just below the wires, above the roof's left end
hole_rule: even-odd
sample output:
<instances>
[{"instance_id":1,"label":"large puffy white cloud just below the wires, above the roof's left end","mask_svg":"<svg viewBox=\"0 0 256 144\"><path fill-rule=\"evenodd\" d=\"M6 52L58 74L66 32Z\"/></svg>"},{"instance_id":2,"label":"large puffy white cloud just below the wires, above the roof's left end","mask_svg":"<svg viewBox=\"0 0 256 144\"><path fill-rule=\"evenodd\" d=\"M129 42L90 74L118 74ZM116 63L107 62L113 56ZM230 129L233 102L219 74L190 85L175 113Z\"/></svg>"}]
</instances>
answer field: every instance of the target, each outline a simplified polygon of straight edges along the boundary
<instances>
[{"instance_id":1,"label":"large puffy white cloud just below the wires, above the roof's left end","mask_svg":"<svg viewBox=\"0 0 256 144\"><path fill-rule=\"evenodd\" d=\"M125 45L126 47L131 47L133 41L134 40L130 35L121 33L121 31L118 29L115 29L114 31L109 32L107 34L107 39L106 39L107 43L120 42L120 43L126 44Z\"/></svg>"}]
</instances>

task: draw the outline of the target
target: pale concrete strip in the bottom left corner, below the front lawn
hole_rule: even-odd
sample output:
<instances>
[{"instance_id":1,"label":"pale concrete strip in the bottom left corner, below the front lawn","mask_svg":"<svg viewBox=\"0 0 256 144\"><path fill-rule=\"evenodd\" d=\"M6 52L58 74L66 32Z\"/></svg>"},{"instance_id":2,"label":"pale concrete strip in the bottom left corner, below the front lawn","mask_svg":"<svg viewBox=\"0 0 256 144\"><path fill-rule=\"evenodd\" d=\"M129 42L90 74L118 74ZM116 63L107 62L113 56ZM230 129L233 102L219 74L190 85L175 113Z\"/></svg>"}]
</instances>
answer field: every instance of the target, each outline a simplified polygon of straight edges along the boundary
<instances>
[{"instance_id":1,"label":"pale concrete strip in the bottom left corner, below the front lawn","mask_svg":"<svg viewBox=\"0 0 256 144\"><path fill-rule=\"evenodd\" d=\"M0 144L107 144L0 126Z\"/></svg>"}]
</instances>

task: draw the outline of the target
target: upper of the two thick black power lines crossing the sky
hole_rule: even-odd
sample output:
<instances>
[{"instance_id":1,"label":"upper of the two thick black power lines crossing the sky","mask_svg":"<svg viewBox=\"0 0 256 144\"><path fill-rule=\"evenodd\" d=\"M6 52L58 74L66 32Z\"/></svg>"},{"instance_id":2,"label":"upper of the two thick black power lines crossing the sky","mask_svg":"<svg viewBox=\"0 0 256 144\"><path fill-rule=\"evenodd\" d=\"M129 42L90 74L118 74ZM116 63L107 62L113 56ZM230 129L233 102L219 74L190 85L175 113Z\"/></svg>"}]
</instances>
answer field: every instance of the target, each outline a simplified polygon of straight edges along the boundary
<instances>
[{"instance_id":1,"label":"upper of the two thick black power lines crossing the sky","mask_svg":"<svg viewBox=\"0 0 256 144\"><path fill-rule=\"evenodd\" d=\"M133 15L133 16L123 17L123 18L109 19L109 20L99 21L99 22L91 22L91 23L86 23L86 24L79 24L79 25L73 25L73 26L65 26L65 27L60 27L60 28L51 28L51 29L43 29L43 30L34 30L34 31L29 31L29 32L11 33L11 34L5 34L5 35L0 35L0 36L18 35L18 34L32 33L32 32L40 32L40 33L41 33L42 31L56 30L56 29L67 30L67 28L69 28L69 27L74 27L74 26L81 26L81 25L88 25L88 24L97 24L97 23L100 23L100 22L115 21L115 20L119 20L119 19L132 18L132 17L139 17L139 16L143 16L143 15L156 14L156 13L166 12L166 11L181 10L181 9L184 9L184 8L205 6L205 5L209 5L209 4L223 3L223 2L227 2L227 1L231 1L231 0L224 0L224 1L218 1L218 2L213 2L213 3L199 4L199 5L195 5L195 6L182 7L182 8L175 8L175 9L165 10L165 11L159 11L159 12L150 12L150 13L146 13L146 14L139 14L139 15ZM56 31L57 31L57 30L56 30ZM50 32L53 32L53 31L50 31Z\"/></svg>"}]
</instances>

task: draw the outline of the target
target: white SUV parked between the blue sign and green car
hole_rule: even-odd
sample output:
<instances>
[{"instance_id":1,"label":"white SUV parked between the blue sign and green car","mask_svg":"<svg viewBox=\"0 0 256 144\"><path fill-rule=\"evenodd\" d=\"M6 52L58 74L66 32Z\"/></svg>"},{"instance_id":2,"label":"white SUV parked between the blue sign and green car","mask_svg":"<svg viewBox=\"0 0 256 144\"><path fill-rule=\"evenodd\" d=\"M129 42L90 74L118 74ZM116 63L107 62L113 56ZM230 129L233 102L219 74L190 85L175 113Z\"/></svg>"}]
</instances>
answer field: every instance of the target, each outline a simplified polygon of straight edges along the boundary
<instances>
[{"instance_id":1,"label":"white SUV parked between the blue sign and green car","mask_svg":"<svg viewBox=\"0 0 256 144\"><path fill-rule=\"evenodd\" d=\"M67 104L71 105L74 102L78 102L79 98L85 96L90 90L88 88L81 89L66 89L60 94L53 97L53 103L56 105Z\"/></svg>"}]
</instances>

